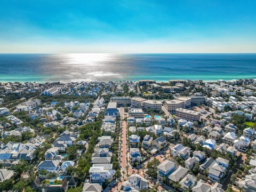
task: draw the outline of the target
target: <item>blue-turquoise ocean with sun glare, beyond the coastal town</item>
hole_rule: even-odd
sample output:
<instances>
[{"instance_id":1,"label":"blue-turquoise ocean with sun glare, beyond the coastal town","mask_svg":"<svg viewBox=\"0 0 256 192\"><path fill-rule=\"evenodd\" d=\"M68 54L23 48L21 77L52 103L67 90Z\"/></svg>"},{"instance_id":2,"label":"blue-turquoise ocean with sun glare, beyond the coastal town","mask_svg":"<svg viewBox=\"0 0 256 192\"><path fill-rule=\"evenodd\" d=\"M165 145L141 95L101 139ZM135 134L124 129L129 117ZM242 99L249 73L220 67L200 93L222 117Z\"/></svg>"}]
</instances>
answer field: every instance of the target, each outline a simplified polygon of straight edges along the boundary
<instances>
[{"instance_id":1,"label":"blue-turquoise ocean with sun glare, beyond the coastal town","mask_svg":"<svg viewBox=\"0 0 256 192\"><path fill-rule=\"evenodd\" d=\"M256 54L0 54L0 82L256 78Z\"/></svg>"}]
</instances>

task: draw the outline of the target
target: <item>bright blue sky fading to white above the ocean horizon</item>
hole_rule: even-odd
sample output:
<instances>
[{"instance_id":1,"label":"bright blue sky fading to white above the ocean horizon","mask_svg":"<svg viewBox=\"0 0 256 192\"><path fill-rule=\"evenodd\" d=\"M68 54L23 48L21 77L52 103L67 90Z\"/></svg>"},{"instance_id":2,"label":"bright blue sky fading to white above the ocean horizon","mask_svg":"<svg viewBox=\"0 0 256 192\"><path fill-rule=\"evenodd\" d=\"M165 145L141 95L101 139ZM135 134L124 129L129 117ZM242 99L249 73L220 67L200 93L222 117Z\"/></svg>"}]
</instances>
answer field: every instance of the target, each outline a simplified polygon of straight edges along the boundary
<instances>
[{"instance_id":1,"label":"bright blue sky fading to white above the ocean horizon","mask_svg":"<svg viewBox=\"0 0 256 192\"><path fill-rule=\"evenodd\" d=\"M1 0L1 53L256 52L255 0Z\"/></svg>"}]
</instances>

